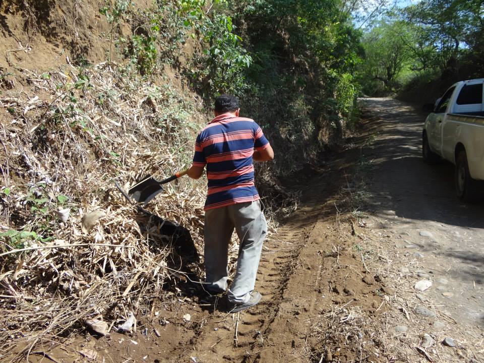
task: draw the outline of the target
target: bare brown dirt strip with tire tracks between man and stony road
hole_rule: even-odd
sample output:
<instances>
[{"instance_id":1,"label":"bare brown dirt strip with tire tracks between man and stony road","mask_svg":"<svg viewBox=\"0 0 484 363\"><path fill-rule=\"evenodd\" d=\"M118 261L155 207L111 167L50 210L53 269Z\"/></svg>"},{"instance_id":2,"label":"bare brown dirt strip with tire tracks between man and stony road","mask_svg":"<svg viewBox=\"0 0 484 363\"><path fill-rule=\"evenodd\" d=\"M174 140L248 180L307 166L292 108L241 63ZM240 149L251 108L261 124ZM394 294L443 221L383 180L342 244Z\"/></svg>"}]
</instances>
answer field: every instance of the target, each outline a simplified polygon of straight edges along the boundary
<instances>
[{"instance_id":1,"label":"bare brown dirt strip with tire tracks between man and stony road","mask_svg":"<svg viewBox=\"0 0 484 363\"><path fill-rule=\"evenodd\" d=\"M365 267L352 250L357 237L349 222L343 225L335 218L355 152L349 150L319 170L306 184L304 203L266 241L256 282L260 304L239 314L215 310L170 361L320 362L329 361L322 360L328 352L338 357L335 361L381 361L373 343L362 340L371 329L365 333L358 324L377 320L385 311L377 294L382 284L373 276L364 282ZM351 328L351 339L358 342L348 345L339 319L356 317L348 313L355 301L365 317Z\"/></svg>"}]
</instances>

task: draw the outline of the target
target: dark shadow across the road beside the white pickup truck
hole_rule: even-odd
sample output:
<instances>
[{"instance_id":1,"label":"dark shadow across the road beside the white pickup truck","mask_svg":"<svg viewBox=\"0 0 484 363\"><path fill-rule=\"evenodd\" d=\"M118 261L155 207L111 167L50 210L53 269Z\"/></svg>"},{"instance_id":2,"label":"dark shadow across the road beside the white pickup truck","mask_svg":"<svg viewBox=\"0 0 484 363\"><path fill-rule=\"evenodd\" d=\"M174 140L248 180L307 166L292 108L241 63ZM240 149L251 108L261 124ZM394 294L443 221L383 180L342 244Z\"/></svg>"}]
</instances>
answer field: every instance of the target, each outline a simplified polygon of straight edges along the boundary
<instances>
[{"instance_id":1,"label":"dark shadow across the road beside the white pickup truck","mask_svg":"<svg viewBox=\"0 0 484 363\"><path fill-rule=\"evenodd\" d=\"M371 189L391 197L396 216L484 228L484 203L463 204L455 196L454 166L423 162L421 131L427 115L392 99L368 99L366 105L372 113L380 109L383 118L365 136L378 133L365 155L373 160Z\"/></svg>"}]
</instances>

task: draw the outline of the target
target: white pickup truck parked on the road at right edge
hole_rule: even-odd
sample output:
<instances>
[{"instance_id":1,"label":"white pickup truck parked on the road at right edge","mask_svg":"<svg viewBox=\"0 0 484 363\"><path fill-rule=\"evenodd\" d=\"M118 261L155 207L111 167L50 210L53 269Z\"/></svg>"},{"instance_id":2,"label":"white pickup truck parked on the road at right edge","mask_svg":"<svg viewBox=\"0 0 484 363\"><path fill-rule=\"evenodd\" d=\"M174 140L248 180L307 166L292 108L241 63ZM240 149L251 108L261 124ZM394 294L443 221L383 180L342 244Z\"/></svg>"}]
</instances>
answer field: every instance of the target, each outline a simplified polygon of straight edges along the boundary
<instances>
[{"instance_id":1,"label":"white pickup truck parked on the road at right edge","mask_svg":"<svg viewBox=\"0 0 484 363\"><path fill-rule=\"evenodd\" d=\"M440 158L455 165L457 197L474 202L484 192L484 79L458 82L435 104L422 132L422 156L428 163Z\"/></svg>"}]
</instances>

